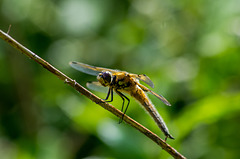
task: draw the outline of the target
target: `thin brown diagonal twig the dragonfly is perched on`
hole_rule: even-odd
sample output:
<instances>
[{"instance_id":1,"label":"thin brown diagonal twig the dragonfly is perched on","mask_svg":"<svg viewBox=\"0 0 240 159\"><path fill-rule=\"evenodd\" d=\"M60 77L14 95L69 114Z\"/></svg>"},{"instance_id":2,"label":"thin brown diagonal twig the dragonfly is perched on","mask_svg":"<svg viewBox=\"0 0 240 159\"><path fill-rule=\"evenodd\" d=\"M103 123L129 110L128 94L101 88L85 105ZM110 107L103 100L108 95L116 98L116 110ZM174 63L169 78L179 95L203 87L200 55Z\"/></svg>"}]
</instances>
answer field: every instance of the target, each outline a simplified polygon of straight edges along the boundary
<instances>
[{"instance_id":1,"label":"thin brown diagonal twig the dragonfly is perched on","mask_svg":"<svg viewBox=\"0 0 240 159\"><path fill-rule=\"evenodd\" d=\"M59 71L58 69L56 69L55 67L50 65L48 62L46 62L45 60L40 58L38 55L36 55L32 51L30 51L29 49L27 49L26 47L21 45L19 42L14 40L7 33L4 33L2 30L0 30L0 37L4 41L6 41L8 44L10 44L12 47L16 48L21 53L25 54L32 60L36 61L38 64L42 65L45 69L52 72L59 79L63 80L65 83L67 83L68 85L70 85L71 87L76 89L82 95L86 96L87 98L89 98L90 100L95 102L96 104L102 106L104 109L107 109L108 111L110 111L111 113L116 115L117 117L119 117L119 118L122 117L123 113L121 111L116 109L111 104L103 101L101 98L97 97L96 95L92 94L91 92L89 92L87 89L85 89L79 83L77 83L75 80L73 80L73 79L69 78L68 76L66 76L65 74L63 74L61 71ZM169 144L167 144L164 140L159 138L156 134L154 134L153 132L151 132L150 130L148 130L147 128L145 128L144 126L142 126L141 124L139 124L138 122L136 122L135 120L130 118L129 116L124 115L123 120L126 123L128 123L129 125L131 125L132 127L134 127L135 129L137 129L138 131L140 131L141 133L143 133L144 135L146 135L152 141L157 143L162 149L167 151L174 158L185 159L185 157L183 155L181 155L179 152L177 152L173 147L171 147Z\"/></svg>"}]
</instances>

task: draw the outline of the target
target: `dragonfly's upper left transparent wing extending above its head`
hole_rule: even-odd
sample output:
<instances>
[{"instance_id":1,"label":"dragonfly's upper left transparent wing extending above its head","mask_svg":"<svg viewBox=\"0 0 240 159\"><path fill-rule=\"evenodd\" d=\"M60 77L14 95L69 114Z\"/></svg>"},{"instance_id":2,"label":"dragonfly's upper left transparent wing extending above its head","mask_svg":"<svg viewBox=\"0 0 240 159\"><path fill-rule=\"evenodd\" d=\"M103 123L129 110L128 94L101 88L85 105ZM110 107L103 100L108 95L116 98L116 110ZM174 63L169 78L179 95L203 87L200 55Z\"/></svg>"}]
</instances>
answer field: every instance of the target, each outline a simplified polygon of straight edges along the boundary
<instances>
[{"instance_id":1,"label":"dragonfly's upper left transparent wing extending above its head","mask_svg":"<svg viewBox=\"0 0 240 159\"><path fill-rule=\"evenodd\" d=\"M84 64L81 62L75 62L75 61L69 62L69 65L78 71L81 71L83 73L93 75L93 76L97 76L100 72L103 72L103 71L118 72L118 70L112 70L112 69L102 68L102 67L95 67L95 66L91 66L91 65Z\"/></svg>"}]
</instances>

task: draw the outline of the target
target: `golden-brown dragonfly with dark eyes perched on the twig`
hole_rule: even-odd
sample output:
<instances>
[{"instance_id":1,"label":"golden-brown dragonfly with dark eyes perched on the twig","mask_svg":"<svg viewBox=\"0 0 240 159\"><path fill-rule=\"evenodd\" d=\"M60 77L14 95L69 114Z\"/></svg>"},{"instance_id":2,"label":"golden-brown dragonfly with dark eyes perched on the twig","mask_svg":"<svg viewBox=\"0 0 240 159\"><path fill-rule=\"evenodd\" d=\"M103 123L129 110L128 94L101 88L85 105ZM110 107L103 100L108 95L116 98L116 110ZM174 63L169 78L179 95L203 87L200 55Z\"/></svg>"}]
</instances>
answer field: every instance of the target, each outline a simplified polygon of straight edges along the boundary
<instances>
[{"instance_id":1,"label":"golden-brown dragonfly with dark eyes perched on the twig","mask_svg":"<svg viewBox=\"0 0 240 159\"><path fill-rule=\"evenodd\" d=\"M106 102L113 101L113 91L122 98L123 103L121 111L123 112L123 116L120 119L120 123L123 120L130 103L130 99L125 94L129 94L136 101L138 101L143 106L143 108L150 114L150 116L154 119L155 123L158 125L160 130L164 133L165 141L167 140L167 138L174 139L174 137L169 133L169 130L163 118L158 113L157 109L152 104L146 93L153 94L167 106L171 106L171 104L162 95L157 94L150 90L149 88L147 88L146 86L140 84L139 80L145 82L152 88L154 87L153 82L147 75L145 74L138 75L116 69L96 67L75 61L70 62L69 65L83 73L97 76L98 81L88 82L87 87L97 91L102 90L103 87L108 88L107 96L104 99ZM110 100L108 100L109 96L111 96ZM125 100L127 100L128 103L124 110Z\"/></svg>"}]
</instances>

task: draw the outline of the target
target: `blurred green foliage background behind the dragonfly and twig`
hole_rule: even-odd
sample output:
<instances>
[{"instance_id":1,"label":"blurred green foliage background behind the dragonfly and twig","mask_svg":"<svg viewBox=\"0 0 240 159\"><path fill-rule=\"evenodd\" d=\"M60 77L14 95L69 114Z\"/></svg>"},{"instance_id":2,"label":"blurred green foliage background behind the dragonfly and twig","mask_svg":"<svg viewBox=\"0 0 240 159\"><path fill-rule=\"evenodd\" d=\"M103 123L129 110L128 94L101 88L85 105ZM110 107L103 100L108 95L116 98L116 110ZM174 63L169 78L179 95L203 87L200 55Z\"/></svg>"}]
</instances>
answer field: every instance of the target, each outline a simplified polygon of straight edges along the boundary
<instances>
[{"instance_id":1,"label":"blurred green foliage background behind the dragonfly and twig","mask_svg":"<svg viewBox=\"0 0 240 159\"><path fill-rule=\"evenodd\" d=\"M240 158L238 0L0 0L0 29L10 24L83 86L96 77L69 61L147 74L172 104L150 96L168 143L187 158ZM3 40L0 88L1 159L172 158ZM164 138L134 100L127 114Z\"/></svg>"}]
</instances>

